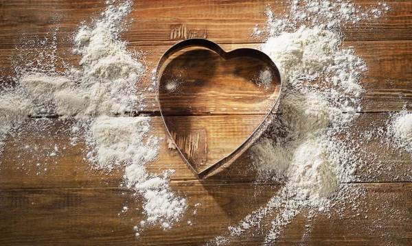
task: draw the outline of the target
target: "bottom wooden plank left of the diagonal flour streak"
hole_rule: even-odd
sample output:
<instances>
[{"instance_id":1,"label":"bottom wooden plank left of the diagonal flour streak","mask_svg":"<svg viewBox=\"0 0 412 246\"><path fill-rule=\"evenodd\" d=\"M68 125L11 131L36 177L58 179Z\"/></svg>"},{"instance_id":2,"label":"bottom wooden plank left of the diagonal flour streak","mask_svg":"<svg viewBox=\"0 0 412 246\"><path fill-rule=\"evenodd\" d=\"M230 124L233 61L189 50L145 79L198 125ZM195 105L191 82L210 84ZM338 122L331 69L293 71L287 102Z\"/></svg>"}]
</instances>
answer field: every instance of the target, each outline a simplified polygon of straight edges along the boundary
<instances>
[{"instance_id":1,"label":"bottom wooden plank left of the diagonal flour streak","mask_svg":"<svg viewBox=\"0 0 412 246\"><path fill-rule=\"evenodd\" d=\"M270 186L176 186L192 197L189 210L171 232L157 225L135 238L144 219L142 197L117 188L0 190L1 245L183 245L211 238L258 209L273 193ZM250 199L253 195L259 197ZM196 197L196 198L195 198ZM199 206L195 204L201 203ZM248 203L245 208L242 204ZM122 212L124 206L128 212ZM213 210L214 214L209 215ZM194 214L196 211L196 214ZM119 215L118 215L119 214ZM192 226L187 224L192 221ZM222 221L225 221L222 223ZM191 232L189 232L191 231ZM192 234L192 235L190 235ZM168 235L168 236L165 236Z\"/></svg>"}]
</instances>

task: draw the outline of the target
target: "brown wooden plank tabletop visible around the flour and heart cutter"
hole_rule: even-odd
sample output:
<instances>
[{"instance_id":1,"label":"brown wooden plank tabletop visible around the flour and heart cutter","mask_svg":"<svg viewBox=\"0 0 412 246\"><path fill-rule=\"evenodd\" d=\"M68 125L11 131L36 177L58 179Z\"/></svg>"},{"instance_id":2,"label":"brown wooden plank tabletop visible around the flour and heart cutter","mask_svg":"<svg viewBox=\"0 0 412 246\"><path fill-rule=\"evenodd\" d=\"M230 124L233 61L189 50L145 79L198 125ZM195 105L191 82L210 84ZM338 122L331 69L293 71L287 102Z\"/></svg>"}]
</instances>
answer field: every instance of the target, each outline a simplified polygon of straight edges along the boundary
<instances>
[{"instance_id":1,"label":"brown wooden plank tabletop visible around the flour and heart cutter","mask_svg":"<svg viewBox=\"0 0 412 246\"><path fill-rule=\"evenodd\" d=\"M146 52L148 71L170 45L185 38L180 32L183 29L187 37L207 37L227 50L256 47L260 41L251 38L251 30L266 21L269 2L136 1L130 14L135 21L122 38L129 41L130 49ZM354 46L369 67L362 79L367 89L363 112L353 131L384 126L388 112L412 103L412 3L387 2L391 11L384 18L343 30L344 45ZM284 10L284 5L272 5L275 12ZM27 39L43 38L57 26L58 56L78 64L79 57L71 54L67 38L80 21L89 21L103 9L104 2L98 0L0 1L3 77L14 74L12 64L21 51L40 48L34 45L16 50L23 34ZM146 101L146 111L156 112L152 106L155 95L148 95ZM55 158L45 157L54 145L69 146L68 134L59 129L69 129L70 122L50 119L50 127L39 129L32 127L34 121L22 127L24 143L8 138L0 159L0 245L203 245L264 206L282 186L256 184L247 156L207 180L196 180L163 141L159 159L149 164L148 170L175 169L170 186L187 197L190 208L172 230L163 232L154 227L136 238L133 226L144 219L141 198L119 188L122 170L109 174L91 171L83 160L82 143L62 149ZM159 116L152 116L152 126L153 134L165 138ZM39 152L27 153L25 145L38 145ZM358 170L358 182L349 184L365 188L358 210L348 208L344 217L320 214L310 221L304 211L285 228L277 245L412 245L411 155L382 147L378 140L363 143L361 149L377 153L378 158L369 160ZM37 162L47 162L48 170L37 174ZM201 205L194 207L198 203ZM124 206L130 209L122 212ZM260 245L263 240L264 234L246 234L229 245Z\"/></svg>"}]
</instances>

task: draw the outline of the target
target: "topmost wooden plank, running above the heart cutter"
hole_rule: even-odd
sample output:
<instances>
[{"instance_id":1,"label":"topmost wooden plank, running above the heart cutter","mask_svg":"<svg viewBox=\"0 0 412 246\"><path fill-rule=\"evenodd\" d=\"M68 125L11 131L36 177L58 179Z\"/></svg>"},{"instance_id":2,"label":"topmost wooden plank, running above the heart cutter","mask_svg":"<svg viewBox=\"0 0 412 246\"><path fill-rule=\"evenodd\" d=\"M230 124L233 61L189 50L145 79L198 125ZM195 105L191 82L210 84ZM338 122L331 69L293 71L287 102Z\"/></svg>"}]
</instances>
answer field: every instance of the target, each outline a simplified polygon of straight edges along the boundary
<instances>
[{"instance_id":1,"label":"topmost wooden plank, running above the heart cutter","mask_svg":"<svg viewBox=\"0 0 412 246\"><path fill-rule=\"evenodd\" d=\"M355 1L362 7L377 1ZM373 19L344 30L347 40L412 40L410 1L387 1L391 11L383 19ZM286 5L260 1L137 1L128 16L134 19L123 37L139 45L205 37L218 43L256 42L251 38L255 25L264 25L266 8L282 14ZM0 48L12 49L21 38L45 34L60 27L58 40L69 45L69 35L81 21L89 21L104 10L104 1L0 1ZM183 30L186 30L183 36ZM182 31L182 32L180 32ZM70 45L69 45L70 46Z\"/></svg>"}]
</instances>

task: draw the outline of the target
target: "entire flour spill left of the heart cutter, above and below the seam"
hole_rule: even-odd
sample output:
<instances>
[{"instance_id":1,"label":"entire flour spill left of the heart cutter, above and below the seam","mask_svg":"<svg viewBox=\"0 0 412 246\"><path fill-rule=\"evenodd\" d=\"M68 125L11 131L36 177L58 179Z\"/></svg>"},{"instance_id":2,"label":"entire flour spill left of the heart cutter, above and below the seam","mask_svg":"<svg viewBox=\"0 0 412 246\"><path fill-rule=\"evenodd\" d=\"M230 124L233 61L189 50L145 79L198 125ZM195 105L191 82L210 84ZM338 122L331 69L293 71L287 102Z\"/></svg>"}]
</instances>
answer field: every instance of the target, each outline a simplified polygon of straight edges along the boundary
<instances>
[{"instance_id":1,"label":"entire flour spill left of the heart cutter, above and below the seam","mask_svg":"<svg viewBox=\"0 0 412 246\"><path fill-rule=\"evenodd\" d=\"M122 186L143 197L141 209L147 219L137 230L147 225L168 230L187 205L170 190L168 177L173 171L159 175L146 171L146 163L157 156L160 140L149 134L150 117L130 116L145 107L139 82L146 73L119 39L132 5L133 1L108 4L93 25L78 28L73 54L81 56L80 66L65 65L64 72L58 73L54 64L45 62L57 59L56 34L48 46L52 51L42 51L34 62L22 61L29 65L15 69L16 86L5 86L0 93L0 151L7 134L16 133L30 116L72 119L71 145L85 138L86 159L92 167L105 172L125 168Z\"/></svg>"}]
</instances>

